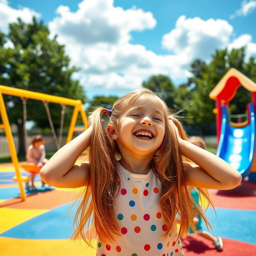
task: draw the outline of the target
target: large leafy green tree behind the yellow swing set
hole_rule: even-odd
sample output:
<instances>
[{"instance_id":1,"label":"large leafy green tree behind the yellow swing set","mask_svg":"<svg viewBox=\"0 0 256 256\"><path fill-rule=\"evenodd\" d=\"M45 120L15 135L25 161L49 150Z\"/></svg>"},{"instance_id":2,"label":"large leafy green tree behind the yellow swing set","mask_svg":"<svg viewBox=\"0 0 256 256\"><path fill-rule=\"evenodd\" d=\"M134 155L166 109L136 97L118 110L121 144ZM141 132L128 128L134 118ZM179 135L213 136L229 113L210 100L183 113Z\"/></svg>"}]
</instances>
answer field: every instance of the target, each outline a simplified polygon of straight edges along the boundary
<instances>
[{"instance_id":1,"label":"large leafy green tree behind the yellow swing set","mask_svg":"<svg viewBox=\"0 0 256 256\"><path fill-rule=\"evenodd\" d=\"M0 84L85 101L82 86L71 79L78 69L69 67L64 45L58 44L57 36L49 38L48 28L42 21L33 18L31 24L26 24L18 18L9 28L8 35L0 33ZM14 47L4 48L5 41L12 42ZM22 101L14 96L5 96L4 100L10 123L18 126L18 151L24 153ZM49 104L49 107L54 125L58 127L60 106ZM67 110L66 119L70 118L70 111L71 108ZM42 102L28 100L27 114L28 120L34 120L38 126L49 126Z\"/></svg>"}]
</instances>

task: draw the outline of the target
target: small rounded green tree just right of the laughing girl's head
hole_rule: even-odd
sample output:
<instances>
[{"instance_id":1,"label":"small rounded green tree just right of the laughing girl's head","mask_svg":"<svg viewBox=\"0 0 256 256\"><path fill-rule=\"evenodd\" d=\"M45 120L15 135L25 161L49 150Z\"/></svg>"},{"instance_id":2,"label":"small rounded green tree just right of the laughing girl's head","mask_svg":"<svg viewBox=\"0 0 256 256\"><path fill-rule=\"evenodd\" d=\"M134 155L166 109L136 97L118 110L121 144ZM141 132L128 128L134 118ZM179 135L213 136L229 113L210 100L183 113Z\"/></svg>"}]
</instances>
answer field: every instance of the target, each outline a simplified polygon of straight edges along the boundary
<instances>
[{"instance_id":1,"label":"small rounded green tree just right of the laughing girl's head","mask_svg":"<svg viewBox=\"0 0 256 256\"><path fill-rule=\"evenodd\" d=\"M142 86L158 93L169 108L176 109L176 87L168 76L151 76L148 82L142 83Z\"/></svg>"}]
</instances>

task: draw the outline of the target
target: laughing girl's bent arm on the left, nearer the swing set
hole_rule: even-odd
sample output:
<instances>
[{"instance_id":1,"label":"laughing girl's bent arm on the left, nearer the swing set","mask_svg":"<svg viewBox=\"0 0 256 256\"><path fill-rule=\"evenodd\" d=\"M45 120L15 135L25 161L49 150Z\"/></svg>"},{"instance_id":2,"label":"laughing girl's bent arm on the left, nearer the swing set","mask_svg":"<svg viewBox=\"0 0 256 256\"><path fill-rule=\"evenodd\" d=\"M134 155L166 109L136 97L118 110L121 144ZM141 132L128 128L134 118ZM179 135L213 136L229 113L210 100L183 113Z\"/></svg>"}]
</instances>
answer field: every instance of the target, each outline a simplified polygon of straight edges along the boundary
<instances>
[{"instance_id":1,"label":"laughing girl's bent arm on the left, nearer the swing set","mask_svg":"<svg viewBox=\"0 0 256 256\"><path fill-rule=\"evenodd\" d=\"M89 119L88 119L89 120ZM88 162L75 164L78 156L90 145L92 127L60 148L40 170L44 182L58 188L86 186L90 173Z\"/></svg>"}]
</instances>

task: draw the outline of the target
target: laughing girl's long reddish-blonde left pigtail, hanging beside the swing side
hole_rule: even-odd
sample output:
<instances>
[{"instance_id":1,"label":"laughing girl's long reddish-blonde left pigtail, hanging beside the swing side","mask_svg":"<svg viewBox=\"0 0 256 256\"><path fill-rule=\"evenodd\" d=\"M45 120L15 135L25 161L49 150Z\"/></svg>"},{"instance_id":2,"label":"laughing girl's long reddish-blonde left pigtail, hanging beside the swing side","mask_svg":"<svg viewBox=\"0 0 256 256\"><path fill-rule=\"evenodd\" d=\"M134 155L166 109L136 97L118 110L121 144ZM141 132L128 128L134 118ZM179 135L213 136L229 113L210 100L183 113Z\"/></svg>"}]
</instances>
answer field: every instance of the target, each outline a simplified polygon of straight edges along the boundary
<instances>
[{"instance_id":1,"label":"laughing girl's long reddish-blonde left pigtail, hanging beside the swing side","mask_svg":"<svg viewBox=\"0 0 256 256\"><path fill-rule=\"evenodd\" d=\"M89 152L90 177L75 216L78 228L74 232L74 238L82 236L89 246L92 246L94 231L102 242L106 242L106 238L112 240L113 235L118 234L118 225L113 216L118 172L110 138L101 122L104 112L106 109L102 107L93 112L94 124ZM90 227L86 227L86 224L90 224ZM90 231L84 232L84 228Z\"/></svg>"}]
</instances>

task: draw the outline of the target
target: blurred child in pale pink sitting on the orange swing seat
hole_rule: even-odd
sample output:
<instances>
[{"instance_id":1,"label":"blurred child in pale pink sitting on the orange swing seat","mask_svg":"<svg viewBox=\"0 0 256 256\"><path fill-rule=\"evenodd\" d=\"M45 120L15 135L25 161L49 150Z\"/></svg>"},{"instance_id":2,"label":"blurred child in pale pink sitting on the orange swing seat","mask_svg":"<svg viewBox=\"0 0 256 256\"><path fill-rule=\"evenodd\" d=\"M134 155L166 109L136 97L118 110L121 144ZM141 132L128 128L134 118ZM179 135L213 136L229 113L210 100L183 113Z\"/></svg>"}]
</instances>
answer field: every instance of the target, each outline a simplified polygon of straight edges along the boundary
<instances>
[{"instance_id":1,"label":"blurred child in pale pink sitting on the orange swing seat","mask_svg":"<svg viewBox=\"0 0 256 256\"><path fill-rule=\"evenodd\" d=\"M35 135L32 138L31 145L28 147L28 152L26 155L26 159L28 163L34 163L36 164L39 168L42 168L44 164L48 161L45 158L45 148L44 148L44 139L42 135ZM36 190L36 187L34 185L34 179L35 179L36 174L31 174L30 180L31 180L31 189ZM42 181L42 187L44 186L44 182ZM29 183L26 183L26 188L29 188Z\"/></svg>"}]
</instances>

